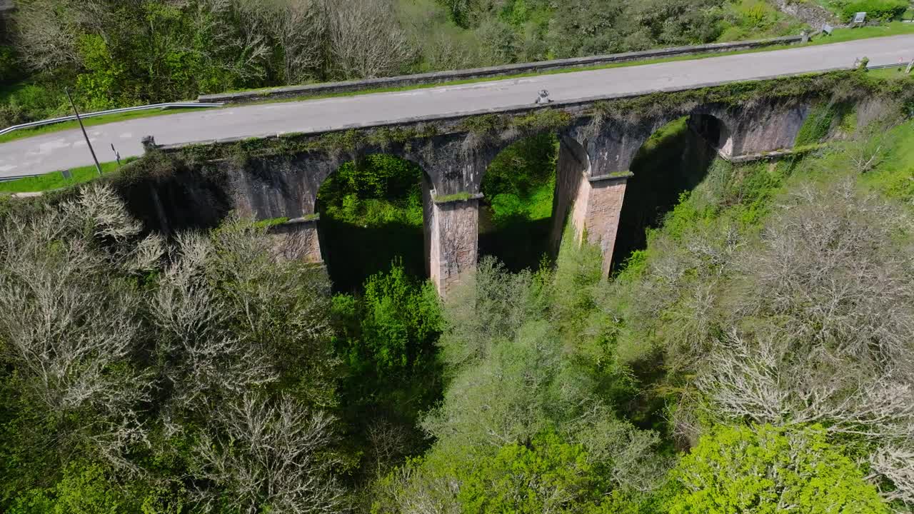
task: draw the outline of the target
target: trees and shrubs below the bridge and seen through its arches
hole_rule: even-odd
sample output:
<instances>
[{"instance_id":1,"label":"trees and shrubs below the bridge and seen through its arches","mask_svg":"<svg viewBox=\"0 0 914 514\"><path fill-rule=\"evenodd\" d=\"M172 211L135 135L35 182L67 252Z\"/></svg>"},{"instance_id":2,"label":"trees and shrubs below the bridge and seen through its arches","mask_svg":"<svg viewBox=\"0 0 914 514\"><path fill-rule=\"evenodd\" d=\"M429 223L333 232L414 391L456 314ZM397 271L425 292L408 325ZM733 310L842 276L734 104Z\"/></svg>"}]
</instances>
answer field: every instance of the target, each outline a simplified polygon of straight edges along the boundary
<instances>
[{"instance_id":1,"label":"trees and shrubs below the bridge and seen through its arches","mask_svg":"<svg viewBox=\"0 0 914 514\"><path fill-rule=\"evenodd\" d=\"M689 168L609 280L566 237L444 302L396 258L334 294L250 220L143 235L101 185L6 200L0 509L910 512L914 122L882 109L824 104L811 153ZM684 127L636 173L661 180ZM496 229L540 218L554 145L496 160ZM322 214L418 230L420 173L345 165Z\"/></svg>"}]
</instances>

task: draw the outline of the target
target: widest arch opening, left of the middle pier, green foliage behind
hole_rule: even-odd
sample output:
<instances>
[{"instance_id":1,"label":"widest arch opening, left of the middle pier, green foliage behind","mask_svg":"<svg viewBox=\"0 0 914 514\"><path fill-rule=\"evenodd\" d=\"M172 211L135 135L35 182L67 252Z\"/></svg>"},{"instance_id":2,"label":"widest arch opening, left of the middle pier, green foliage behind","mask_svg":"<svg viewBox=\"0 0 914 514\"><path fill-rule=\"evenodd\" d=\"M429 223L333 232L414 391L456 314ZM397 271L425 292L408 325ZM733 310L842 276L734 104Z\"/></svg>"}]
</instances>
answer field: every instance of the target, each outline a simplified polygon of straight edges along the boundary
<instances>
[{"instance_id":1,"label":"widest arch opening, left of the middle pier, green foliage behind","mask_svg":"<svg viewBox=\"0 0 914 514\"><path fill-rule=\"evenodd\" d=\"M361 291L368 277L401 262L425 278L419 165L372 154L340 166L324 180L314 211L327 273L337 292Z\"/></svg>"}]
</instances>

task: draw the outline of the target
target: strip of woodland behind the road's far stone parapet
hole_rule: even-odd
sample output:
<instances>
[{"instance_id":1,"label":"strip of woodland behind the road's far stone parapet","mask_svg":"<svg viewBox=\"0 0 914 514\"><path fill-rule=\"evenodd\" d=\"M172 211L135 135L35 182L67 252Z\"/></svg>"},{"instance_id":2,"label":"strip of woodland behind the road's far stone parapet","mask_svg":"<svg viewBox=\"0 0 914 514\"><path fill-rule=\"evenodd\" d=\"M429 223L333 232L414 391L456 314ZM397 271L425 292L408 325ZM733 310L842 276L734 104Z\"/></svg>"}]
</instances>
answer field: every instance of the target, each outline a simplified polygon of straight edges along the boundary
<instances>
[{"instance_id":1,"label":"strip of woodland behind the road's far stone parapet","mask_svg":"<svg viewBox=\"0 0 914 514\"><path fill-rule=\"evenodd\" d=\"M794 34L764 0L19 0L0 126L200 93ZM5 44L5 46L3 46Z\"/></svg>"}]
</instances>

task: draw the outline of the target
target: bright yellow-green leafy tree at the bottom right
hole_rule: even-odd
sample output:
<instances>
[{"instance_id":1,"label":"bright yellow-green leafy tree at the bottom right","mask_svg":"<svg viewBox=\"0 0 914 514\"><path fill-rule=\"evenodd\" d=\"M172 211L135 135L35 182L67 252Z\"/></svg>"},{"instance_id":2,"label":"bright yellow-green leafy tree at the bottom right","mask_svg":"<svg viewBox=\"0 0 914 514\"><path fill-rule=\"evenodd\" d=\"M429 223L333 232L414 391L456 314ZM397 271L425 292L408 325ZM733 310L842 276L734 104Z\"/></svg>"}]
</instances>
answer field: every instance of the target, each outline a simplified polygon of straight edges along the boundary
<instances>
[{"instance_id":1,"label":"bright yellow-green leafy tree at the bottom right","mask_svg":"<svg viewBox=\"0 0 914 514\"><path fill-rule=\"evenodd\" d=\"M671 514L887 512L821 427L717 428L671 472Z\"/></svg>"}]
</instances>

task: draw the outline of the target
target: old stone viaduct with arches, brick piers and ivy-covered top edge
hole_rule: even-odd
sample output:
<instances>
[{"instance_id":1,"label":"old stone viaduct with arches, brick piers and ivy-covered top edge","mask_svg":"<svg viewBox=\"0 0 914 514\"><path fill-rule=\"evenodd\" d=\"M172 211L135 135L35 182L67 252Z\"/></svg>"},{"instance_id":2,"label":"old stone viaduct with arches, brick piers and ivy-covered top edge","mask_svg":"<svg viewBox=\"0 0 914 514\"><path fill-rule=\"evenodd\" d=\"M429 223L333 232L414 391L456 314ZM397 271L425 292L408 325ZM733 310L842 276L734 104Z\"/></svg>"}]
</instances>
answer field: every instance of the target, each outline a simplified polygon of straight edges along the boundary
<instances>
[{"instance_id":1,"label":"old stone viaduct with arches, brick piers and ivy-covered top edge","mask_svg":"<svg viewBox=\"0 0 914 514\"><path fill-rule=\"evenodd\" d=\"M790 86L791 79L785 80ZM186 228L187 220L212 226L232 210L258 220L288 218L271 229L277 251L287 258L321 262L316 206L321 184L360 155L397 155L424 170L426 266L446 294L477 262L486 168L508 145L554 132L560 149L551 243L558 249L570 222L578 241L600 246L608 273L632 159L656 130L687 116L688 126L722 157L769 157L792 151L817 102L814 94L797 93L795 87L788 87L789 94L769 88L757 95L736 88L739 94L729 100L725 92L734 88L719 88L411 120L334 134L189 147L156 146L147 140L147 155L153 149L156 155L181 155L186 169L156 178L152 194L149 184L142 190L134 186L128 203L145 202L139 208L141 217L166 233Z\"/></svg>"}]
</instances>

